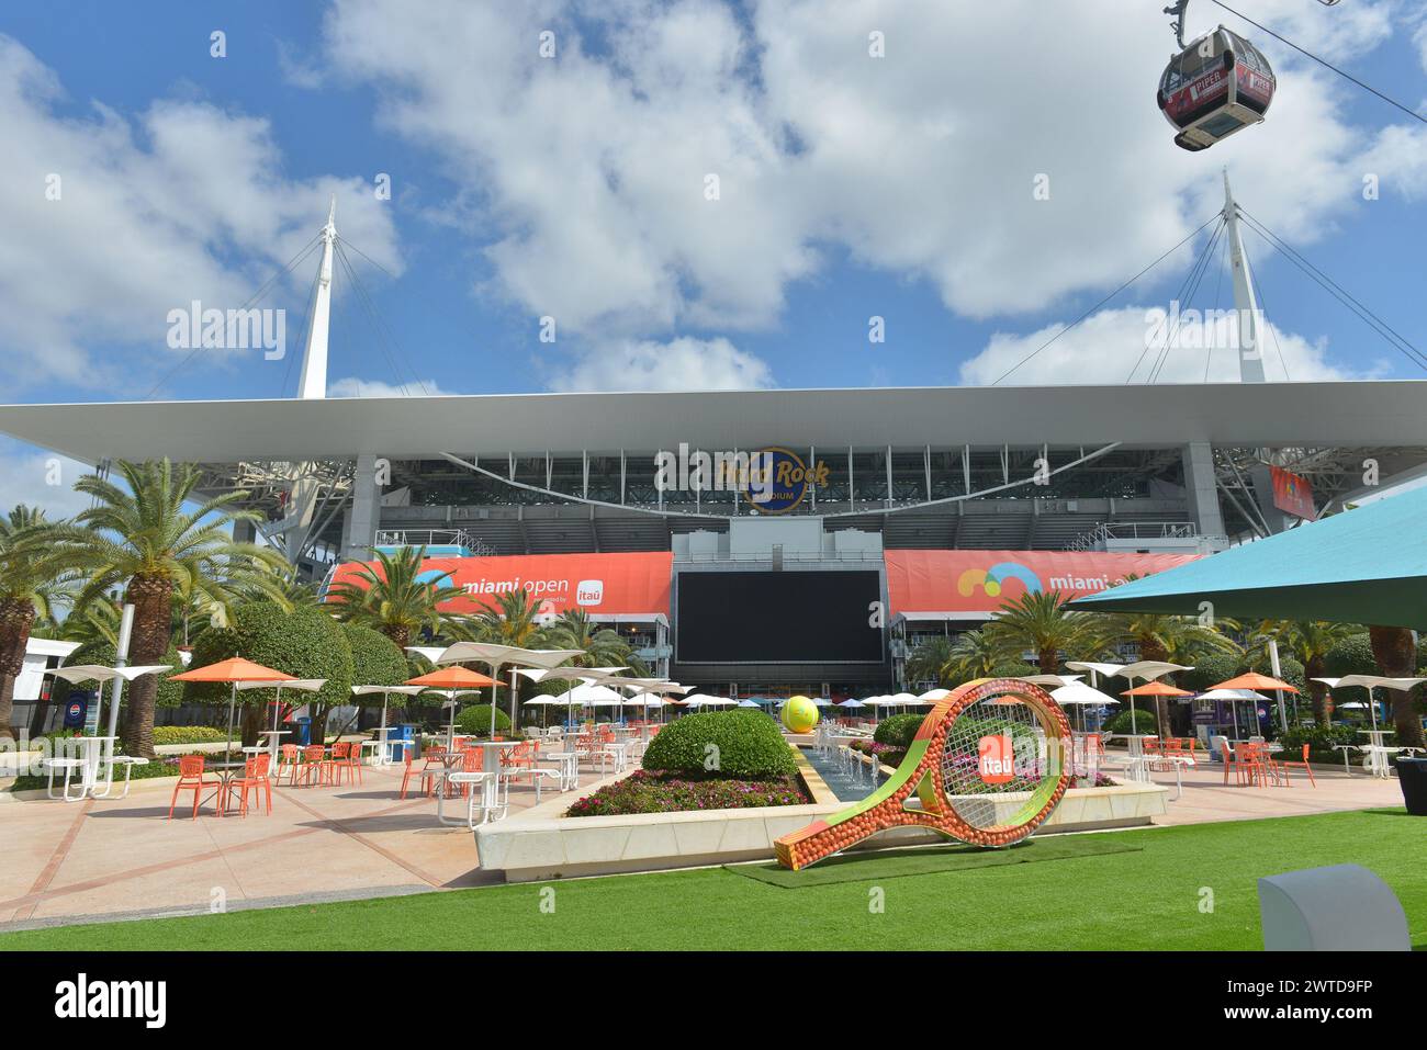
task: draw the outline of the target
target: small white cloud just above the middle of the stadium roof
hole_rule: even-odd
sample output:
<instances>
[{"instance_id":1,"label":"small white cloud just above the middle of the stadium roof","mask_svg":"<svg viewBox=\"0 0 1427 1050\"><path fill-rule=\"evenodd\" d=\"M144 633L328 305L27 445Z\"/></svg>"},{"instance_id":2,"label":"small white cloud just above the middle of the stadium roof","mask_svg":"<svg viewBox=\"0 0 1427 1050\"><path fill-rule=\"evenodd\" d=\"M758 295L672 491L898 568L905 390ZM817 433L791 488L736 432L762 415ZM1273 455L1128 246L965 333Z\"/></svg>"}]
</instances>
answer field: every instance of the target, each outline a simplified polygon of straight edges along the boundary
<instances>
[{"instance_id":1,"label":"small white cloud just above the middle of the stadium roof","mask_svg":"<svg viewBox=\"0 0 1427 1050\"><path fill-rule=\"evenodd\" d=\"M692 391L773 387L768 364L723 338L626 341L581 354L549 384L552 389Z\"/></svg>"}]
</instances>

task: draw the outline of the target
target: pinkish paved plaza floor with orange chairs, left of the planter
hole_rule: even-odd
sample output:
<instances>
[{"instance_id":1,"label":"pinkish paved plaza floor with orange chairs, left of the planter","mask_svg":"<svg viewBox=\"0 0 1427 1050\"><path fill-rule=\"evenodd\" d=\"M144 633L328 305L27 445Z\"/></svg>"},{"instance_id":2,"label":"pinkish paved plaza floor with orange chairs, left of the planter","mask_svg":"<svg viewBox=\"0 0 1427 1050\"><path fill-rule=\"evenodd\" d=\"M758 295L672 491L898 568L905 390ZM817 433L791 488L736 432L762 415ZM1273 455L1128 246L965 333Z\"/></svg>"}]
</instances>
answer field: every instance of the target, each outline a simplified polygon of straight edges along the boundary
<instances>
[{"instance_id":1,"label":"pinkish paved plaza floor with orange chairs, left of the planter","mask_svg":"<svg viewBox=\"0 0 1427 1050\"><path fill-rule=\"evenodd\" d=\"M140 914L191 914L475 886L475 837L437 822L437 800L398 797L401 766L362 783L275 788L273 813L194 820L173 780L136 780L127 799L0 805L0 930ZM581 770L569 802L608 780ZM415 792L415 788L412 788ZM547 788L542 800L555 797ZM188 809L184 810L187 799ZM251 803L250 803L251 805ZM535 805L511 788L511 813ZM186 815L187 813L187 815ZM464 816L452 799L447 816Z\"/></svg>"}]
</instances>

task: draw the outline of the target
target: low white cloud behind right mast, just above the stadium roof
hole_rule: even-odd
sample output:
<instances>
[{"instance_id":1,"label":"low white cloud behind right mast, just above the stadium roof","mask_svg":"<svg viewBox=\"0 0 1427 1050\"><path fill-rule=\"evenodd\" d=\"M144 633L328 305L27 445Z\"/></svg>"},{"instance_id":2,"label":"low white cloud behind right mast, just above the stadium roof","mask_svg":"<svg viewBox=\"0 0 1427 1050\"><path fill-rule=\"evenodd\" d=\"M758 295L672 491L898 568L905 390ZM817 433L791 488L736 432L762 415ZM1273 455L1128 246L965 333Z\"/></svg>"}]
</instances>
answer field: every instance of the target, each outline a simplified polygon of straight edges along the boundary
<instances>
[{"instance_id":1,"label":"low white cloud behind right mast, just above the stadium roof","mask_svg":"<svg viewBox=\"0 0 1427 1050\"><path fill-rule=\"evenodd\" d=\"M1060 338L1063 322L1015 335L996 332L960 369L960 381L983 387L1000 379L1006 387L1075 387L1146 382L1239 382L1239 350L1233 318L1180 314L1164 324L1166 308L1123 307L1086 318ZM1049 347L1040 350L1045 344ZM1172 344L1167 355L1166 342ZM1269 382L1371 378L1334 365L1327 344L1306 340L1274 325L1263 330L1263 368ZM1039 354L1032 354L1040 350ZM1163 364L1157 365L1163 357ZM1029 358L1029 360L1026 360ZM1019 368L1019 362L1025 361ZM1207 365L1207 375L1206 375ZM1010 371L1013 369L1015 371ZM1157 371L1156 371L1157 368ZM1287 368L1287 371L1286 371ZM1006 372L1010 375L1006 375ZM1002 379L1002 377L1005 378Z\"/></svg>"}]
</instances>

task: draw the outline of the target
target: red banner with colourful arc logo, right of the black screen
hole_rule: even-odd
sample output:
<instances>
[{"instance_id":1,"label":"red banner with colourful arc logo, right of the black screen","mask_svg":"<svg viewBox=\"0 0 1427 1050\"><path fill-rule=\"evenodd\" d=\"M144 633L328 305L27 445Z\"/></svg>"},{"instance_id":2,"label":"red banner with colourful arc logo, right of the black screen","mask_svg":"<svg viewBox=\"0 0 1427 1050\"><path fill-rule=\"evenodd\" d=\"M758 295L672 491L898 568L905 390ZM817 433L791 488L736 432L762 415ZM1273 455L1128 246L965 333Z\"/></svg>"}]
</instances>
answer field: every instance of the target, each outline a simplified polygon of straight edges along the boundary
<instances>
[{"instance_id":1,"label":"red banner with colourful arc logo, right of the black screen","mask_svg":"<svg viewBox=\"0 0 1427 1050\"><path fill-rule=\"evenodd\" d=\"M888 602L899 612L995 612L1039 591L1070 598L1193 561L1184 554L1063 551L888 551Z\"/></svg>"}]
</instances>

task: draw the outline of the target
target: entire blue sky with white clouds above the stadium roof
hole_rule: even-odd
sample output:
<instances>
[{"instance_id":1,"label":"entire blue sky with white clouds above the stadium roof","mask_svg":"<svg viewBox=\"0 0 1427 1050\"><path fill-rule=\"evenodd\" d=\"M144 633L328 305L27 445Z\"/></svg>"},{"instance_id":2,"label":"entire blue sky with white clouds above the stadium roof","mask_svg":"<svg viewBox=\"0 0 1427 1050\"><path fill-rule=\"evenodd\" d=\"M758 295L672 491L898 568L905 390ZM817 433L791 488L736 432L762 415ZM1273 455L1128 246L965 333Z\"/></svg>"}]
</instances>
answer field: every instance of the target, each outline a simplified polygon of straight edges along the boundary
<instances>
[{"instance_id":1,"label":"entire blue sky with white clouds above the stadium roof","mask_svg":"<svg viewBox=\"0 0 1427 1050\"><path fill-rule=\"evenodd\" d=\"M398 374L338 272L338 392L985 382L1207 220L1224 165L1251 214L1427 347L1427 127L1249 30L1280 78L1269 123L1183 153L1154 106L1162 6L6 6L0 131L19 161L0 177L0 308L19 324L0 399L148 395L181 357L166 311L238 305L332 191L342 235L395 274L358 262L402 348ZM1408 106L1427 97L1420 4L1233 6ZM1219 20L1244 29L1192 4L1193 31ZM43 195L51 173L61 201ZM1423 378L1251 234L1249 251L1290 378ZM1124 382L1190 260L1013 381ZM261 304L288 308L293 344L314 268ZM1187 305L1229 307L1229 288L1216 262ZM1162 381L1203 367L1176 350ZM1267 371L1284 378L1273 345ZM291 357L204 352L163 394L295 384Z\"/></svg>"}]
</instances>

